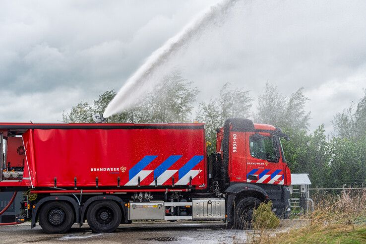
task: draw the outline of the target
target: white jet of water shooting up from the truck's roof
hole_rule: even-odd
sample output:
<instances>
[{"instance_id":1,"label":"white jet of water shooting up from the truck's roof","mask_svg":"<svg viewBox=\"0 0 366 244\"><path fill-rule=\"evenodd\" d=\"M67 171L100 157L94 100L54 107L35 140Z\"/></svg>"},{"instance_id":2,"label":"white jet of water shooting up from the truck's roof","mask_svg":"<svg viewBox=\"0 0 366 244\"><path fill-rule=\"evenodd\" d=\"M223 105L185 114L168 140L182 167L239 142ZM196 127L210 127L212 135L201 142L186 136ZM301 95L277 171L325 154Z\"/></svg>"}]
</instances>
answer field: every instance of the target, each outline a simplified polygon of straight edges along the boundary
<instances>
[{"instance_id":1,"label":"white jet of water shooting up from the truck's roof","mask_svg":"<svg viewBox=\"0 0 366 244\"><path fill-rule=\"evenodd\" d=\"M164 65L177 51L196 35L212 23L217 16L225 14L233 5L233 0L220 1L198 15L193 21L187 24L181 32L169 39L162 47L156 50L136 72L128 78L120 91L109 103L104 111L103 118L108 118L125 109L133 107L138 98L143 96L153 86L148 82L154 71Z\"/></svg>"}]
</instances>

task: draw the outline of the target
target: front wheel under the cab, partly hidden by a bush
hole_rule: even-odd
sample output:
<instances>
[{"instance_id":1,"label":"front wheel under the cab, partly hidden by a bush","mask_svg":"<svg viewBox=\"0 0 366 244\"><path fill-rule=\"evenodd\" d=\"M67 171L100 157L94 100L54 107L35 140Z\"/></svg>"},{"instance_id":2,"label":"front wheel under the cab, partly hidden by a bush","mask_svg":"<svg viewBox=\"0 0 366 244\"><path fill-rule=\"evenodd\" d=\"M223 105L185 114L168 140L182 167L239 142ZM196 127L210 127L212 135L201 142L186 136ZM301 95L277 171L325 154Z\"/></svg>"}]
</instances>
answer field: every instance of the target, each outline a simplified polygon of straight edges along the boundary
<instances>
[{"instance_id":1,"label":"front wheel under the cab, partly hidden by a bush","mask_svg":"<svg viewBox=\"0 0 366 244\"><path fill-rule=\"evenodd\" d=\"M260 203L261 201L255 197L245 197L238 202L234 210L235 229L243 230L251 228L254 208L258 207Z\"/></svg>"}]
</instances>

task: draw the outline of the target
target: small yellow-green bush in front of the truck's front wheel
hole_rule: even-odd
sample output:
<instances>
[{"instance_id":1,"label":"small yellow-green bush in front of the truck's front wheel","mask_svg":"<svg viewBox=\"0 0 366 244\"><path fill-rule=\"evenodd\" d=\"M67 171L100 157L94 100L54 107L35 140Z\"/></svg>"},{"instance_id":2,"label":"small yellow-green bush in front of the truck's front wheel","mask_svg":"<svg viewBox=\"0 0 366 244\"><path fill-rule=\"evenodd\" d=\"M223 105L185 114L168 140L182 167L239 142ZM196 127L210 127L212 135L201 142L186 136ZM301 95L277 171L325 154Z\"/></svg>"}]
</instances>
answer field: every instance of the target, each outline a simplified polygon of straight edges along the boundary
<instances>
[{"instance_id":1,"label":"small yellow-green bush in front of the truck's front wheel","mask_svg":"<svg viewBox=\"0 0 366 244\"><path fill-rule=\"evenodd\" d=\"M280 219L272 211L272 202L262 202L253 212L253 228L274 229L280 225Z\"/></svg>"}]
</instances>

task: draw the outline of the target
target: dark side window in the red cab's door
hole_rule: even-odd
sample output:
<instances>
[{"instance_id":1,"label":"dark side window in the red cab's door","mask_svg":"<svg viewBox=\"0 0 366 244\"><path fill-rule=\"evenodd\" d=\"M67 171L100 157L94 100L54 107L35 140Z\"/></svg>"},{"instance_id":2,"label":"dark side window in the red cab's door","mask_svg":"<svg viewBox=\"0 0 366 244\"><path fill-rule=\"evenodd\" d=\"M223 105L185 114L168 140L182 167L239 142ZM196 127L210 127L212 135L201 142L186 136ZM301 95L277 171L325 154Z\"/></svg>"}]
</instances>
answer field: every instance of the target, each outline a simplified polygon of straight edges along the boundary
<instances>
[{"instance_id":1,"label":"dark side window in the red cab's door","mask_svg":"<svg viewBox=\"0 0 366 244\"><path fill-rule=\"evenodd\" d=\"M249 137L250 155L253 158L278 162L280 158L278 139L276 136L254 134Z\"/></svg>"}]
</instances>

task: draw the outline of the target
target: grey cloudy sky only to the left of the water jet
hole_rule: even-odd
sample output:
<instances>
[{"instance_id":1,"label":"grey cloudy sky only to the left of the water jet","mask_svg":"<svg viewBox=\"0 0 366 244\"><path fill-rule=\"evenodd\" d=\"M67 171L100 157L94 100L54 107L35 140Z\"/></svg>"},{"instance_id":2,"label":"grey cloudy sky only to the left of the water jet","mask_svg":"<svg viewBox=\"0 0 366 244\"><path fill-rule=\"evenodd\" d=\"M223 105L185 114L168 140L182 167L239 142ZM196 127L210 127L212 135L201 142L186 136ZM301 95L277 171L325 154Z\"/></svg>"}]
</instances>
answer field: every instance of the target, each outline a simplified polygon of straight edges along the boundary
<instances>
[{"instance_id":1,"label":"grey cloudy sky only to the left of the water jet","mask_svg":"<svg viewBox=\"0 0 366 244\"><path fill-rule=\"evenodd\" d=\"M57 121L118 89L210 1L3 1L2 121Z\"/></svg>"}]
</instances>

